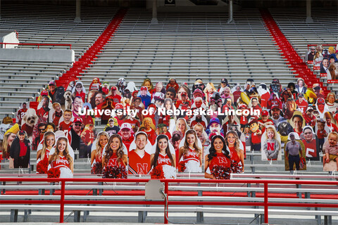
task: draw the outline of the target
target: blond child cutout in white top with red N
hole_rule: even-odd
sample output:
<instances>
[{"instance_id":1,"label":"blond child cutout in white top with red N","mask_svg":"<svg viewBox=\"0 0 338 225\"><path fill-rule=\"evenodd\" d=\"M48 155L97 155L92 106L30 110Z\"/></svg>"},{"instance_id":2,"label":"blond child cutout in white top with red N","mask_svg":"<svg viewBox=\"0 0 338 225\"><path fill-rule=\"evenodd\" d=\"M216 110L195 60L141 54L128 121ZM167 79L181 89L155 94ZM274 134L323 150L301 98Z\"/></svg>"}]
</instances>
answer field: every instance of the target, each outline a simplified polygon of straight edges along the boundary
<instances>
[{"instance_id":1,"label":"blond child cutout in white top with red N","mask_svg":"<svg viewBox=\"0 0 338 225\"><path fill-rule=\"evenodd\" d=\"M282 160L280 135L275 126L268 125L262 135L262 160Z\"/></svg>"}]
</instances>

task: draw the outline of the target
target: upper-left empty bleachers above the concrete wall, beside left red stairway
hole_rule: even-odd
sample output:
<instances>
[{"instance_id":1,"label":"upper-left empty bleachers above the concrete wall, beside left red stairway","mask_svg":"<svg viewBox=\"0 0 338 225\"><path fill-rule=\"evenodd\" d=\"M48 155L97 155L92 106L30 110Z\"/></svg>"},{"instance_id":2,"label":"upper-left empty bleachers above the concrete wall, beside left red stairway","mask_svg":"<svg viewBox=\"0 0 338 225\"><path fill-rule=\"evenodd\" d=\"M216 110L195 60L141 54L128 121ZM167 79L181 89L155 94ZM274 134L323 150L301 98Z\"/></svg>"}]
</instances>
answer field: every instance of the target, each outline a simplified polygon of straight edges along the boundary
<instances>
[{"instance_id":1,"label":"upper-left empty bleachers above the concrete wall, beside left red stairway","mask_svg":"<svg viewBox=\"0 0 338 225\"><path fill-rule=\"evenodd\" d=\"M75 57L84 51L111 22L117 8L81 8L81 22L75 22L74 6L7 5L1 6L0 27L16 30L20 43L72 44ZM20 46L32 48L32 46ZM65 49L65 46L40 48Z\"/></svg>"}]
</instances>

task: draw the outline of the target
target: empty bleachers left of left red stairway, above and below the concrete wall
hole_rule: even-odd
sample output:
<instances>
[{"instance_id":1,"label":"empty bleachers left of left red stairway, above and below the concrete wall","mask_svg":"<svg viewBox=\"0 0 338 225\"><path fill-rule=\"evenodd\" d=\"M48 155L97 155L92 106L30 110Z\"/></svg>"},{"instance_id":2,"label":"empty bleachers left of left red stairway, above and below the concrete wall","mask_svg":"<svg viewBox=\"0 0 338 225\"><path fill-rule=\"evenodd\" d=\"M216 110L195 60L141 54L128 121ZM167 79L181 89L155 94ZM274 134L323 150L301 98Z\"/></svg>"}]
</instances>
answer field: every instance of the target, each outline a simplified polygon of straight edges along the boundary
<instances>
[{"instance_id":1,"label":"empty bleachers left of left red stairway, above and below the concrete wall","mask_svg":"<svg viewBox=\"0 0 338 225\"><path fill-rule=\"evenodd\" d=\"M81 22L74 22L75 6L1 4L1 30L16 30L20 43L71 44L75 59L101 35L118 8L81 8ZM19 46L37 49L37 46ZM39 46L65 49L66 46ZM58 79L72 63L0 62L0 119L13 117L20 103L35 100L51 79ZM33 97L33 98L32 98Z\"/></svg>"}]
</instances>

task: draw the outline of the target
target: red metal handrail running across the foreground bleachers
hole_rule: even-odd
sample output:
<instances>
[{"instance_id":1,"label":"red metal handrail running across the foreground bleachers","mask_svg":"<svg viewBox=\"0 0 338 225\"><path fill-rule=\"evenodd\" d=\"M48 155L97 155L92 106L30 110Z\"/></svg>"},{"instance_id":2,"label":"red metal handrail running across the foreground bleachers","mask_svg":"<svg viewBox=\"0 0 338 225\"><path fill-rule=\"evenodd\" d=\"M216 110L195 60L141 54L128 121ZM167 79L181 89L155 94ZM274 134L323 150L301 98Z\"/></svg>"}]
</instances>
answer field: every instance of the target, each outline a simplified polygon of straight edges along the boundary
<instances>
[{"instance_id":1,"label":"red metal handrail running across the foreground bleachers","mask_svg":"<svg viewBox=\"0 0 338 225\"><path fill-rule=\"evenodd\" d=\"M65 200L65 182L121 182L121 183L146 183L150 179L48 179L48 178L1 178L0 181L45 181L45 182L61 182L61 199L60 200L0 200L0 204L56 204L60 205L60 223L63 223L63 214L65 204L120 204L120 205L164 205L164 223L168 224L168 205L256 205L264 207L264 222L268 223L268 207L332 207L338 208L337 204L316 204L316 203L269 203L268 202L268 184L320 184L320 185L332 185L337 186L338 181L302 181L302 180L261 180L261 179L248 179L248 180L208 180L208 179L161 179L161 182L165 184L164 193L168 198L168 184L169 183L211 183L211 184L264 184L264 202L252 203L252 202L201 202L201 201L168 201L168 205L165 205L165 201L146 201L146 200ZM4 189L4 188L3 188ZM6 188L5 188L6 189ZM325 189L323 189L325 190Z\"/></svg>"}]
</instances>

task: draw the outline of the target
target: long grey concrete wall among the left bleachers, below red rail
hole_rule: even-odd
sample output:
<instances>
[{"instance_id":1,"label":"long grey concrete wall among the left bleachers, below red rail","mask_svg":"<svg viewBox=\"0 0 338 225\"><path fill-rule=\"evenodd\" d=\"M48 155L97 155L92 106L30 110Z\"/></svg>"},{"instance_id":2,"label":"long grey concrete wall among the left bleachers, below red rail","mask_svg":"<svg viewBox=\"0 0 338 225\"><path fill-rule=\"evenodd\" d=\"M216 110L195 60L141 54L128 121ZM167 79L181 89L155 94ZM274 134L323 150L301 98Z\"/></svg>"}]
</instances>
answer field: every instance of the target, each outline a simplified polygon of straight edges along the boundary
<instances>
[{"instance_id":1,"label":"long grey concrete wall among the left bleachers, below red rail","mask_svg":"<svg viewBox=\"0 0 338 225\"><path fill-rule=\"evenodd\" d=\"M0 49L0 60L73 63L75 53L69 49Z\"/></svg>"}]
</instances>

